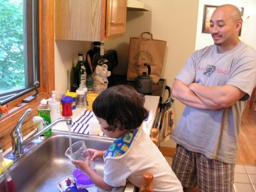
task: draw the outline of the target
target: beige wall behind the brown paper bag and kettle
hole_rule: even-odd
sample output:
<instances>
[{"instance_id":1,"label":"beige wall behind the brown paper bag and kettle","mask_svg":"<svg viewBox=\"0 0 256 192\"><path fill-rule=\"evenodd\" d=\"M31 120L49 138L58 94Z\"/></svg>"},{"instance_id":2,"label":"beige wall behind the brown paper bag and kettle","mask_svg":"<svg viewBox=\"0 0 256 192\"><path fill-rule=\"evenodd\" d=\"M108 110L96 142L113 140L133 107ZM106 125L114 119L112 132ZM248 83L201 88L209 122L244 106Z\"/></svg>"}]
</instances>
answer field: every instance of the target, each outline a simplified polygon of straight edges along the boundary
<instances>
[{"instance_id":1,"label":"beige wall behind the brown paper bag and kettle","mask_svg":"<svg viewBox=\"0 0 256 192\"><path fill-rule=\"evenodd\" d=\"M115 74L127 74L129 40L144 31L154 39L166 40L166 54L162 77L172 86L174 77L184 65L189 54L195 51L198 0L141 0L152 8L151 12L127 12L127 30L122 38L106 42L118 52ZM178 100L173 106L174 118L178 120L184 105Z\"/></svg>"}]
</instances>

